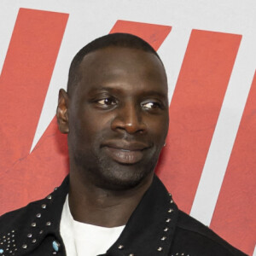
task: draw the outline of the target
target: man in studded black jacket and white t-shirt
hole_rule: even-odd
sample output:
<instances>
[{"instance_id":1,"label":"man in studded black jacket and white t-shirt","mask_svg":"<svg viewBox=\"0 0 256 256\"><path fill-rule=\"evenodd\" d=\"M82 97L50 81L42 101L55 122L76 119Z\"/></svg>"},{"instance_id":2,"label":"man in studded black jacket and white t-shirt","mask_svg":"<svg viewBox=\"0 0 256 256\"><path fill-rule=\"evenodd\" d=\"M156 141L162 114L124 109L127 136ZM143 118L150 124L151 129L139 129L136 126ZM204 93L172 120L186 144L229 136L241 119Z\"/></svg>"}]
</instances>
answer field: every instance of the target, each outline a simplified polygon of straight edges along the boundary
<instances>
[{"instance_id":1,"label":"man in studded black jacket and white t-shirt","mask_svg":"<svg viewBox=\"0 0 256 256\"><path fill-rule=\"evenodd\" d=\"M0 255L245 255L179 211L154 176L167 79L141 38L116 33L81 49L57 119L70 174L44 200L3 215Z\"/></svg>"}]
</instances>

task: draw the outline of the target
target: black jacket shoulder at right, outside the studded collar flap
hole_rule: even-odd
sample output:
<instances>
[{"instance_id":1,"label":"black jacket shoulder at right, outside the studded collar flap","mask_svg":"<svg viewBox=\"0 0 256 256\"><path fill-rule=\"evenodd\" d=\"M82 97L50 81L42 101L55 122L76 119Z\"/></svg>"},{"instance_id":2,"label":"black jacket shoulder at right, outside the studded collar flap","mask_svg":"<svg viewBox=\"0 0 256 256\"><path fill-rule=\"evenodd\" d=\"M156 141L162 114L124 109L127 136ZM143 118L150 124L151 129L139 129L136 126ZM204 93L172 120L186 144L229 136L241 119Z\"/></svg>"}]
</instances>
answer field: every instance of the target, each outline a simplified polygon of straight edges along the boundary
<instances>
[{"instance_id":1,"label":"black jacket shoulder at right, outside the studded collar flap","mask_svg":"<svg viewBox=\"0 0 256 256\"><path fill-rule=\"evenodd\" d=\"M179 211L172 251L183 255L246 255L215 234L204 224ZM183 252L182 252L183 251Z\"/></svg>"}]
</instances>

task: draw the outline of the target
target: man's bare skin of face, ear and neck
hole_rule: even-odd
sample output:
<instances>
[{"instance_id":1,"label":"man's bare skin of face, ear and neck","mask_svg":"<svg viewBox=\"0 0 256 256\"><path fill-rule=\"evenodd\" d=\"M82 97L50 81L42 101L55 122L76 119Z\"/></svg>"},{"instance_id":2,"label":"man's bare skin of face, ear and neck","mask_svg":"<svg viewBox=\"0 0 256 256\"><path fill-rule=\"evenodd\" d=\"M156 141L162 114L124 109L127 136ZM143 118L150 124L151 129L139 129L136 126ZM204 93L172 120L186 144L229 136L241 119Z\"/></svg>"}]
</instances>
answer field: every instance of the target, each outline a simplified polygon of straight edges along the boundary
<instances>
[{"instance_id":1,"label":"man's bare skin of face, ear and neck","mask_svg":"<svg viewBox=\"0 0 256 256\"><path fill-rule=\"evenodd\" d=\"M79 222L124 225L152 183L168 131L165 69L142 49L108 47L84 56L72 95L59 93L68 133L69 206Z\"/></svg>"}]
</instances>

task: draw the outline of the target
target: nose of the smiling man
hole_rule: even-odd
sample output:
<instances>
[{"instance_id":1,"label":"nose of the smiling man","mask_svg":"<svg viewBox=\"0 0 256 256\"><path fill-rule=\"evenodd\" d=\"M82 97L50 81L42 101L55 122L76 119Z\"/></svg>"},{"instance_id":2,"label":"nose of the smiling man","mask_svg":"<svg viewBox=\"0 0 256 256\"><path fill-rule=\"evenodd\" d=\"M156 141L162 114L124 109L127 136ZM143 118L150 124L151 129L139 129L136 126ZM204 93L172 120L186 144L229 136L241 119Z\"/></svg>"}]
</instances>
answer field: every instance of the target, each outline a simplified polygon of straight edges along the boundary
<instances>
[{"instance_id":1,"label":"nose of the smiling man","mask_svg":"<svg viewBox=\"0 0 256 256\"><path fill-rule=\"evenodd\" d=\"M147 129L143 122L142 109L132 103L125 104L123 108L116 110L111 128L113 131L126 131L129 134L145 133Z\"/></svg>"}]
</instances>

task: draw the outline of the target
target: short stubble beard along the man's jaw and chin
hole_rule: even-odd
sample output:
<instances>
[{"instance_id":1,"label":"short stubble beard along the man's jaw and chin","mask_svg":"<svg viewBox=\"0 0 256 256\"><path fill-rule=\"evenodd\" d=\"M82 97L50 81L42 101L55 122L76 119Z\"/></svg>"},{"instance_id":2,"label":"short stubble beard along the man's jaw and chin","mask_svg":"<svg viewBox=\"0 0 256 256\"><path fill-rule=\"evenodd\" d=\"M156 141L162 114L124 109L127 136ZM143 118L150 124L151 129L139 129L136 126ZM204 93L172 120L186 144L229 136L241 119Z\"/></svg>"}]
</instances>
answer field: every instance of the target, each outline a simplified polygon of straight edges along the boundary
<instances>
[{"instance_id":1,"label":"short stubble beard along the man's jaw and chin","mask_svg":"<svg viewBox=\"0 0 256 256\"><path fill-rule=\"evenodd\" d=\"M101 150L101 149L100 149ZM160 150L153 150L136 164L120 164L110 159L106 154L95 154L93 149L79 150L74 154L75 165L81 176L90 179L90 183L101 189L125 190L137 187L149 174L154 172Z\"/></svg>"}]
</instances>

